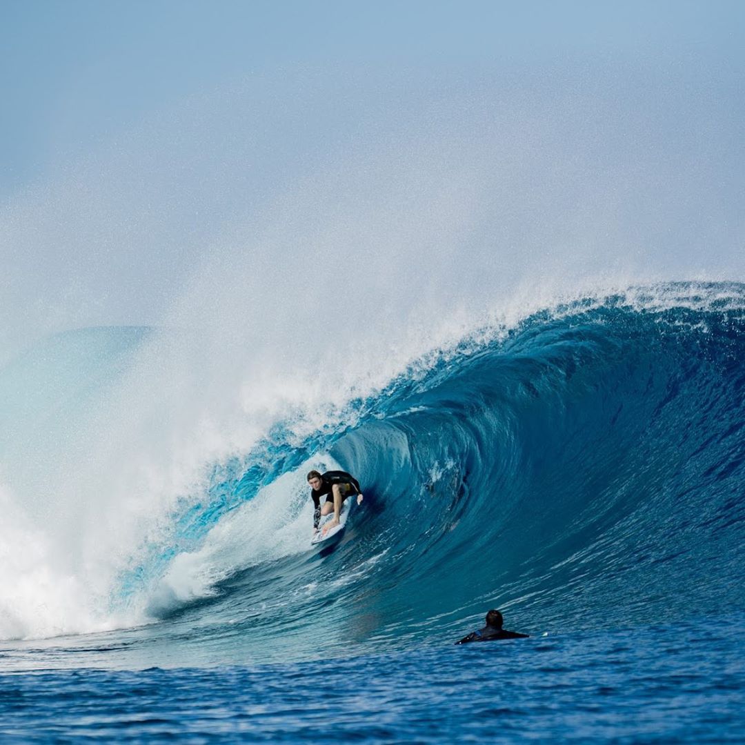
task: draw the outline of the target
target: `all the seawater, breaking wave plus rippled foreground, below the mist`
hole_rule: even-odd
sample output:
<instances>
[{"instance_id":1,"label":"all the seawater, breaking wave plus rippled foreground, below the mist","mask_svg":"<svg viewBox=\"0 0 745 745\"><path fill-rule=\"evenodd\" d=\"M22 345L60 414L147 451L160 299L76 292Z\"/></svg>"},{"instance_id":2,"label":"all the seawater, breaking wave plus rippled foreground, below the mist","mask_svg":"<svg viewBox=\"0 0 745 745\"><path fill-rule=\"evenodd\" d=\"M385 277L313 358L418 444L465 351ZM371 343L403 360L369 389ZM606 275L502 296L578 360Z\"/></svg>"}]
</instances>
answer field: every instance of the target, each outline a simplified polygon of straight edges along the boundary
<instances>
[{"instance_id":1,"label":"all the seawater, breaking wave plus rippled foreground, below the mist","mask_svg":"<svg viewBox=\"0 0 745 745\"><path fill-rule=\"evenodd\" d=\"M745 285L579 297L312 408L257 383L229 442L193 346L0 370L3 741L744 741ZM321 550L311 468L365 495ZM490 608L530 638L454 646Z\"/></svg>"}]
</instances>

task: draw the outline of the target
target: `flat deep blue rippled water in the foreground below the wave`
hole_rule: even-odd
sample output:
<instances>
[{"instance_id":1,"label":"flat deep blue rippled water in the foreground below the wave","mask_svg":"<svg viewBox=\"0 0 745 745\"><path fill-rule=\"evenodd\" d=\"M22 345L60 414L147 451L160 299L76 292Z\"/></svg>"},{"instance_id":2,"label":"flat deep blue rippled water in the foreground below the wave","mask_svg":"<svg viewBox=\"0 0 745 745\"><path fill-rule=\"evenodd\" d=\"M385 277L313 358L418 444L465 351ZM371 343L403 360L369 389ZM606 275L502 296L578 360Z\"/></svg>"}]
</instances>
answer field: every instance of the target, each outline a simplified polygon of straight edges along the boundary
<instances>
[{"instance_id":1,"label":"flat deep blue rippled water in the foreground below the wave","mask_svg":"<svg viewBox=\"0 0 745 745\"><path fill-rule=\"evenodd\" d=\"M4 739L741 742L742 614L259 666L2 678Z\"/></svg>"}]
</instances>

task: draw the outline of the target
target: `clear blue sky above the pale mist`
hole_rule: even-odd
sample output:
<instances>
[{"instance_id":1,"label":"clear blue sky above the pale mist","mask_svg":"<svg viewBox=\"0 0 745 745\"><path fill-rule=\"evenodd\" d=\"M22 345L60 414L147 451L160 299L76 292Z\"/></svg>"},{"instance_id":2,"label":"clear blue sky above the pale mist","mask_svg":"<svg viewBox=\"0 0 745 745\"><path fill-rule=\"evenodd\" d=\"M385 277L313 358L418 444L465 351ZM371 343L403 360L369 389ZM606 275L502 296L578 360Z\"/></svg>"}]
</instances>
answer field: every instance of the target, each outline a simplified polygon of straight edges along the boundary
<instances>
[{"instance_id":1,"label":"clear blue sky above the pale mist","mask_svg":"<svg viewBox=\"0 0 745 745\"><path fill-rule=\"evenodd\" d=\"M2 0L0 197L190 95L283 69L636 60L745 72L740 1Z\"/></svg>"}]
</instances>

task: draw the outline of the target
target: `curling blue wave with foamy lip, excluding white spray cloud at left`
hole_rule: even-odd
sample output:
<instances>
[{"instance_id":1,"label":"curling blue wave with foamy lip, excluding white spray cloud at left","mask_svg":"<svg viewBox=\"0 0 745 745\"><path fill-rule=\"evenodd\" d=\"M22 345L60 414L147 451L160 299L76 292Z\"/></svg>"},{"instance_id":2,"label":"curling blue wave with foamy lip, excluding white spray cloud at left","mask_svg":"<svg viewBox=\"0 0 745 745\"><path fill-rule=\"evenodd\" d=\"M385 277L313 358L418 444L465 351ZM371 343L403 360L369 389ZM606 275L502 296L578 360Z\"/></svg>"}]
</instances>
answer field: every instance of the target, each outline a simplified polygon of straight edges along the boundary
<instances>
[{"instance_id":1,"label":"curling blue wave with foamy lip, excluding white spray cloud at left","mask_svg":"<svg viewBox=\"0 0 745 745\"><path fill-rule=\"evenodd\" d=\"M185 663L443 641L492 606L531 633L726 614L745 603L744 421L743 285L571 302L434 350L333 425L274 422L153 517L95 602L108 628L157 621L139 635ZM317 466L365 493L320 552Z\"/></svg>"}]
</instances>

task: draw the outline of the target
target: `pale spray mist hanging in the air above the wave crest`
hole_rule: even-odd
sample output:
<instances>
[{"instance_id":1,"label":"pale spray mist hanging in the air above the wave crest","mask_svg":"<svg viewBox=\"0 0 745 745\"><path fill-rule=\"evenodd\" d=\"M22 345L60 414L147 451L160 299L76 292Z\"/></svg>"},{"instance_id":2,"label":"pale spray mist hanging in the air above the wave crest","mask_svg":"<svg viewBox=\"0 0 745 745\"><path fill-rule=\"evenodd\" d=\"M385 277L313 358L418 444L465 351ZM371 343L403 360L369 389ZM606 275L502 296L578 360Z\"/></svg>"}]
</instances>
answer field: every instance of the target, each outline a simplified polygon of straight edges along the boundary
<instances>
[{"instance_id":1,"label":"pale spray mist hanging in the air above the wave crest","mask_svg":"<svg viewBox=\"0 0 745 745\"><path fill-rule=\"evenodd\" d=\"M743 279L744 104L686 72L294 70L164 108L2 206L0 364L101 325L197 326L231 367L398 349L434 319Z\"/></svg>"}]
</instances>

